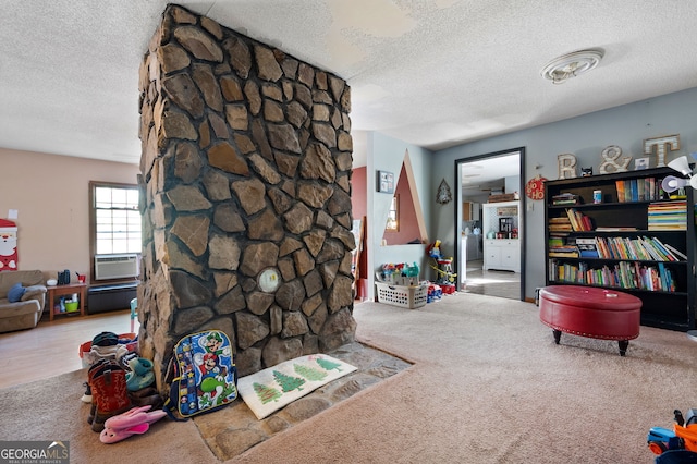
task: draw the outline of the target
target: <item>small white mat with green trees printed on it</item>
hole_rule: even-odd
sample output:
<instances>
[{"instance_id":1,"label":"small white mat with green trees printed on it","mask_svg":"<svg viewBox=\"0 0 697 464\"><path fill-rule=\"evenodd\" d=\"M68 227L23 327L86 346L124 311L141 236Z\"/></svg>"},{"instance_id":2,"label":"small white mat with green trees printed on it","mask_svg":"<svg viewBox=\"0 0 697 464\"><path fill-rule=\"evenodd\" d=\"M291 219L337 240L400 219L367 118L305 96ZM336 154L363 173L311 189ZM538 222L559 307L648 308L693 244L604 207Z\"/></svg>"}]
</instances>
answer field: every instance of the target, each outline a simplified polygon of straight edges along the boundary
<instances>
[{"instance_id":1,"label":"small white mat with green trees printed on it","mask_svg":"<svg viewBox=\"0 0 697 464\"><path fill-rule=\"evenodd\" d=\"M237 391L260 420L354 370L356 367L343 361L326 354L310 354L239 378Z\"/></svg>"}]
</instances>

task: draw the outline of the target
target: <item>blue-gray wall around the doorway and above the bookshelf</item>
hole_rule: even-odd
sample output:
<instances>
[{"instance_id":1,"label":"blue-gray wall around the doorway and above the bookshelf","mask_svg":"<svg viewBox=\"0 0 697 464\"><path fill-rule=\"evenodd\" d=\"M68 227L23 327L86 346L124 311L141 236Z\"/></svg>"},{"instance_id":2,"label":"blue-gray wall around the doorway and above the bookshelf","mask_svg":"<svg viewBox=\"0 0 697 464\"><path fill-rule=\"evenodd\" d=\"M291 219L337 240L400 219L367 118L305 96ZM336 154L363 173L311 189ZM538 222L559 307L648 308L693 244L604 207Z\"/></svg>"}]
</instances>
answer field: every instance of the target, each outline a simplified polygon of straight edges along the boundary
<instances>
[{"instance_id":1,"label":"blue-gray wall around the doorway and above the bookshelf","mask_svg":"<svg viewBox=\"0 0 697 464\"><path fill-rule=\"evenodd\" d=\"M429 166L429 202L424 204L424 209L430 212L429 236L440 239L447 249L453 249L456 202L447 207L437 204L432 185L438 185L437 182L445 176L452 188L456 159L525 147L524 183L537 174L554 180L558 179L557 156L560 154L575 155L578 167L592 167L597 174L602 162L600 154L609 145L620 146L624 156L643 158L646 156L645 138L671 134L680 134L681 149L669 152L665 162L697 151L697 88L437 151ZM655 166L656 157L651 156L651 167ZM629 169L634 169L634 162ZM527 211L523 235L527 251L525 295L534 298L535 288L545 284L545 205L541 200L530 200L523 193L521 197Z\"/></svg>"}]
</instances>

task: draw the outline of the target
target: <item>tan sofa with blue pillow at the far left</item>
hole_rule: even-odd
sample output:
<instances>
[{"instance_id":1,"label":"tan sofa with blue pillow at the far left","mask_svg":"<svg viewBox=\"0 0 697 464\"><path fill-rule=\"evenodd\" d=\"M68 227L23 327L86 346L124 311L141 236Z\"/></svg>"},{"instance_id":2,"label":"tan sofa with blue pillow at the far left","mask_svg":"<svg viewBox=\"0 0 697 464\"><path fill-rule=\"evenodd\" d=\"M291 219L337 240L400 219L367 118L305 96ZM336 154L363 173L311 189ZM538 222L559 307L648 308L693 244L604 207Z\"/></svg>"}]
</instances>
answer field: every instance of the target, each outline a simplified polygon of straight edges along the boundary
<instances>
[{"instance_id":1,"label":"tan sofa with blue pillow at the far left","mask_svg":"<svg viewBox=\"0 0 697 464\"><path fill-rule=\"evenodd\" d=\"M8 292L17 282L26 292L19 302L10 303ZM46 292L40 270L0 272L0 333L35 328L44 312Z\"/></svg>"}]
</instances>

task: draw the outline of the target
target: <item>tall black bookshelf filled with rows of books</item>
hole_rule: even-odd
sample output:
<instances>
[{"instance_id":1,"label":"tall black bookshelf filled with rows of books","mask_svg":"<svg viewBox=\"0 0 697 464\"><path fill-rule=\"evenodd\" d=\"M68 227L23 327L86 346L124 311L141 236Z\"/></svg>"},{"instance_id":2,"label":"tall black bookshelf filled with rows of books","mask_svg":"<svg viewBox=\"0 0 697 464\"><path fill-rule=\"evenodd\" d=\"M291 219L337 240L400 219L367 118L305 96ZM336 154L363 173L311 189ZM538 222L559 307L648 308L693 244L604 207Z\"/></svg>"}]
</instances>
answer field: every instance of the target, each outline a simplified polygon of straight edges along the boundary
<instances>
[{"instance_id":1,"label":"tall black bookshelf filled with rows of books","mask_svg":"<svg viewBox=\"0 0 697 464\"><path fill-rule=\"evenodd\" d=\"M670 168L656 168L546 182L546 284L615 289L641 300L641 325L680 331L695 329L695 193L687 186L684 204L675 204L683 198L671 198L660 190L660 182L667 175L680 176L680 173ZM625 187L635 187L640 193L626 194ZM594 203L598 191L601 200ZM649 208L670 211L652 212L650 221ZM684 229L677 229L680 225L672 222L674 216L685 218ZM668 223L656 219L659 217L669 218ZM570 218L571 228L563 222L564 218ZM612 242L617 254L602 256L599 251L598 257L579 256L573 251L578 248L577 239L594 239L606 245ZM665 254L650 256L648 249L639 249L645 239L656 248L660 243L678 253L663 249L673 260ZM585 253L592 254L585 248Z\"/></svg>"}]
</instances>

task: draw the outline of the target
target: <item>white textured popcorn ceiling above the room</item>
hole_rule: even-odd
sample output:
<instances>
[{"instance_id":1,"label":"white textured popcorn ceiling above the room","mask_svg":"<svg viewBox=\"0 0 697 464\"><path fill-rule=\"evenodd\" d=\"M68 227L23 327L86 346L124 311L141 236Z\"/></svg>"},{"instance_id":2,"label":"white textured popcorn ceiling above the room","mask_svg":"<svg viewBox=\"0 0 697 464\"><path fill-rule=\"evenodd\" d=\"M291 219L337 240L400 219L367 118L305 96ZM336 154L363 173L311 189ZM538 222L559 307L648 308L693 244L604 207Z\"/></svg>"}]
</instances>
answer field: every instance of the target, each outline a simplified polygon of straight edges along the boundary
<instances>
[{"instance_id":1,"label":"white textured popcorn ceiling above the room","mask_svg":"<svg viewBox=\"0 0 697 464\"><path fill-rule=\"evenodd\" d=\"M138 68L166 3L0 0L0 146L138 162ZM431 149L697 86L692 0L180 4L345 78L354 132ZM540 77L590 47L596 70Z\"/></svg>"}]
</instances>

